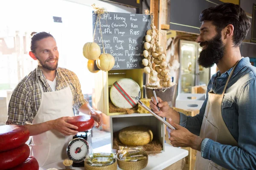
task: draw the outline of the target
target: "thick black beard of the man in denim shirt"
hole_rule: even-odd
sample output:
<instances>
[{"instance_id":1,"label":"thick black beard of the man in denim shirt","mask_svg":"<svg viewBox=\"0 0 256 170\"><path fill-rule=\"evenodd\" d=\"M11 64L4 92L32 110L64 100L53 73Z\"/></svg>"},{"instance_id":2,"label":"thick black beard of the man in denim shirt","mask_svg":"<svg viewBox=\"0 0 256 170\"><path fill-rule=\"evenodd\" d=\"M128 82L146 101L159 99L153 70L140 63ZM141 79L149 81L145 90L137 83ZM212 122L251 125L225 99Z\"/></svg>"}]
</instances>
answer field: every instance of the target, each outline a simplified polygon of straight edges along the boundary
<instances>
[{"instance_id":1,"label":"thick black beard of the man in denim shirt","mask_svg":"<svg viewBox=\"0 0 256 170\"><path fill-rule=\"evenodd\" d=\"M198 58L198 64L204 68L210 68L224 56L224 44L221 40L221 32L219 32L212 40L201 42L200 46L207 45L207 47L201 51Z\"/></svg>"}]
</instances>

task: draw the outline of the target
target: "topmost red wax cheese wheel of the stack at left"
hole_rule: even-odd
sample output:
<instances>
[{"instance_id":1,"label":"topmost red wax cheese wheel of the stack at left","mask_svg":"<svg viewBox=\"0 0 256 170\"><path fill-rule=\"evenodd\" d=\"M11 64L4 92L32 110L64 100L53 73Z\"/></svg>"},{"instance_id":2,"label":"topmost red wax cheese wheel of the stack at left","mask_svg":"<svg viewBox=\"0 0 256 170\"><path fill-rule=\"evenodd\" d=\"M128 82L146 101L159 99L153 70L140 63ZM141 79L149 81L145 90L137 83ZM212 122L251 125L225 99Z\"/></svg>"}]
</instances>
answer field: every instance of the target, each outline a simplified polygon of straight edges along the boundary
<instances>
[{"instance_id":1,"label":"topmost red wax cheese wheel of the stack at left","mask_svg":"<svg viewBox=\"0 0 256 170\"><path fill-rule=\"evenodd\" d=\"M0 126L0 152L15 149L29 139L29 130L21 125Z\"/></svg>"}]
</instances>

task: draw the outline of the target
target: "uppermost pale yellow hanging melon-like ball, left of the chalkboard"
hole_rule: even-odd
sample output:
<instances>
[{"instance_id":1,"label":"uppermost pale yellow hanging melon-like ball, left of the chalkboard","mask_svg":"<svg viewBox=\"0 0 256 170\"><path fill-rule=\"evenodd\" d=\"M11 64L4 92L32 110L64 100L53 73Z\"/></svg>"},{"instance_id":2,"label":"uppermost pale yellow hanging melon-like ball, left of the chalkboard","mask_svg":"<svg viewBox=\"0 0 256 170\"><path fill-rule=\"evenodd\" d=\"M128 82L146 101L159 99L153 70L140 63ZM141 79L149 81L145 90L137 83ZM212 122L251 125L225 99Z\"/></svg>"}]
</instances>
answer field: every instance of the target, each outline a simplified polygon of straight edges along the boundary
<instances>
[{"instance_id":1,"label":"uppermost pale yellow hanging melon-like ball, left of the chalkboard","mask_svg":"<svg viewBox=\"0 0 256 170\"><path fill-rule=\"evenodd\" d=\"M99 45L96 42L86 42L83 47L84 57L90 60L96 60L101 54Z\"/></svg>"}]
</instances>

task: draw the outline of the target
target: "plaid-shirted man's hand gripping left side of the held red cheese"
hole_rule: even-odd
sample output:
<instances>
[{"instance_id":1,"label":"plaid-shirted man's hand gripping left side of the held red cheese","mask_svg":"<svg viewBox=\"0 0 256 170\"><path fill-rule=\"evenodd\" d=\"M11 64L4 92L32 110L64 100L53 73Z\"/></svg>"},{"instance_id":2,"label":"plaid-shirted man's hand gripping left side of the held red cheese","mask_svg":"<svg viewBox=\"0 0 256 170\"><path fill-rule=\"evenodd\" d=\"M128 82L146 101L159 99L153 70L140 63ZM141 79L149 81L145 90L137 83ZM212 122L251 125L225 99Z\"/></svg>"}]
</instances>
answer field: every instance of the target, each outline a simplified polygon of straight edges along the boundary
<instances>
[{"instance_id":1,"label":"plaid-shirted man's hand gripping left side of the held red cheese","mask_svg":"<svg viewBox=\"0 0 256 170\"><path fill-rule=\"evenodd\" d=\"M52 129L58 130L60 133L65 136L76 135L78 131L72 129L78 129L77 126L71 125L66 122L66 120L73 119L73 117L61 117L52 121Z\"/></svg>"}]
</instances>

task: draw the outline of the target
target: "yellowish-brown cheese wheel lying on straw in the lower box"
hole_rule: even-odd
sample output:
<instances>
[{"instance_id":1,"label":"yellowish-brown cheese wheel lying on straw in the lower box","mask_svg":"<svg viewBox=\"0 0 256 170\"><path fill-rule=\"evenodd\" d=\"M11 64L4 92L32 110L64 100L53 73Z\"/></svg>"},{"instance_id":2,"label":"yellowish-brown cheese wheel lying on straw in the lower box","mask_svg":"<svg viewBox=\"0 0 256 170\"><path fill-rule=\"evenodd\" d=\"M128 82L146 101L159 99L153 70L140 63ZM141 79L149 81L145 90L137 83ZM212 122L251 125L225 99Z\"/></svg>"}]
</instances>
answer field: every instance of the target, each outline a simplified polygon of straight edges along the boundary
<instances>
[{"instance_id":1,"label":"yellowish-brown cheese wheel lying on straw in the lower box","mask_svg":"<svg viewBox=\"0 0 256 170\"><path fill-rule=\"evenodd\" d=\"M152 141L153 133L147 126L129 126L120 130L118 137L122 144L141 146Z\"/></svg>"}]
</instances>

